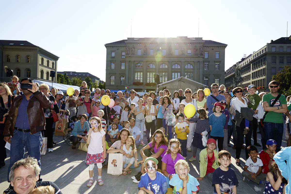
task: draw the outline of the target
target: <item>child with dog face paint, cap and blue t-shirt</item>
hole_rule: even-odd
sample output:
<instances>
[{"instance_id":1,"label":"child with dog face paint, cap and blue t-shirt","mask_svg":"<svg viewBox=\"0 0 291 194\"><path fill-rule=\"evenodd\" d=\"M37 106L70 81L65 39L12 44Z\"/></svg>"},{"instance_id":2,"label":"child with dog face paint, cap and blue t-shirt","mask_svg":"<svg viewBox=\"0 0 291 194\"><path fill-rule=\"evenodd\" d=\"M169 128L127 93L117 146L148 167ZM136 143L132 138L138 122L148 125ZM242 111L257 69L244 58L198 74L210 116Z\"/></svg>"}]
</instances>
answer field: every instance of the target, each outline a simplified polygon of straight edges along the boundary
<instances>
[{"instance_id":1,"label":"child with dog face paint, cap and blue t-shirt","mask_svg":"<svg viewBox=\"0 0 291 194\"><path fill-rule=\"evenodd\" d=\"M138 194L154 193L154 194L165 194L167 192L167 180L166 177L161 173L157 172L158 161L153 157L148 157L144 161L145 174L141 176L139 181Z\"/></svg>"}]
</instances>

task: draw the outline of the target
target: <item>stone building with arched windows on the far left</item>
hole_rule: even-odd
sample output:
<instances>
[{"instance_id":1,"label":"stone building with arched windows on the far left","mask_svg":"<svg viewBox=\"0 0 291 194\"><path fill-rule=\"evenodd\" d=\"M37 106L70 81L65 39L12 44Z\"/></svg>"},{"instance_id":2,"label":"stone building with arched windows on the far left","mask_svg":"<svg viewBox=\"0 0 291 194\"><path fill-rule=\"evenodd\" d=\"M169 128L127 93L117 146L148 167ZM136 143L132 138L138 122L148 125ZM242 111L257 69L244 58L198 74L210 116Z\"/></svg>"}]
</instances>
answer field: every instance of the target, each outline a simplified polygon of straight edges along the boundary
<instances>
[{"instance_id":1,"label":"stone building with arched windows on the far left","mask_svg":"<svg viewBox=\"0 0 291 194\"><path fill-rule=\"evenodd\" d=\"M22 40L0 40L1 81L9 82L8 70L13 70L20 80L23 78L54 81L50 71L57 71L59 57Z\"/></svg>"}]
</instances>

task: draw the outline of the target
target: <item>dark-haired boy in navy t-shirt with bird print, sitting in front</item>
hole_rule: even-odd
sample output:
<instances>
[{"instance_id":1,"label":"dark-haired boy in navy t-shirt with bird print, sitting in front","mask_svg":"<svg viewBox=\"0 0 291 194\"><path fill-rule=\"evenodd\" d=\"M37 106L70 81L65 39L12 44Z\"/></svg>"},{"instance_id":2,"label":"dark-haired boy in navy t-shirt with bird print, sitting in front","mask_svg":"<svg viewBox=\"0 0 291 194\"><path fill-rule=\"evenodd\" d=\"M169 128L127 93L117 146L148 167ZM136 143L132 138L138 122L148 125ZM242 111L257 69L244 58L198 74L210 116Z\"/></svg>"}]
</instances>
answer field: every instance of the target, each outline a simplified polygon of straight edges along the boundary
<instances>
[{"instance_id":1,"label":"dark-haired boy in navy t-shirt with bird print, sitting in front","mask_svg":"<svg viewBox=\"0 0 291 194\"><path fill-rule=\"evenodd\" d=\"M236 185L238 184L235 171L228 166L231 163L231 155L226 150L218 153L218 161L221 165L214 170L212 184L214 184L214 194L237 193Z\"/></svg>"}]
</instances>

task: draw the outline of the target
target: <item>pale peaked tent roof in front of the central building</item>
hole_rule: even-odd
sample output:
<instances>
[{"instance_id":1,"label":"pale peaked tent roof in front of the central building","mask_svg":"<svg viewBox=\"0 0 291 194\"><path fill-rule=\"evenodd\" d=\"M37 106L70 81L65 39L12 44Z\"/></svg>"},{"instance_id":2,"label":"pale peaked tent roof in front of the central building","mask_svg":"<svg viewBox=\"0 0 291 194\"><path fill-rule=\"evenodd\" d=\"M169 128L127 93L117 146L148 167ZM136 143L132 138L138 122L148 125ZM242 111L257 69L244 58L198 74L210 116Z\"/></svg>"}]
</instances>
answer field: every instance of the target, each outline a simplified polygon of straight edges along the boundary
<instances>
[{"instance_id":1,"label":"pale peaked tent roof in front of the central building","mask_svg":"<svg viewBox=\"0 0 291 194\"><path fill-rule=\"evenodd\" d=\"M159 94L159 91L165 87L170 91L171 94L173 94L175 91L178 91L179 89L182 89L184 91L186 88L190 88L192 90L192 93L194 93L198 89L204 89L207 88L208 86L182 76L157 85L157 93ZM173 97L173 95L171 95L171 97Z\"/></svg>"}]
</instances>

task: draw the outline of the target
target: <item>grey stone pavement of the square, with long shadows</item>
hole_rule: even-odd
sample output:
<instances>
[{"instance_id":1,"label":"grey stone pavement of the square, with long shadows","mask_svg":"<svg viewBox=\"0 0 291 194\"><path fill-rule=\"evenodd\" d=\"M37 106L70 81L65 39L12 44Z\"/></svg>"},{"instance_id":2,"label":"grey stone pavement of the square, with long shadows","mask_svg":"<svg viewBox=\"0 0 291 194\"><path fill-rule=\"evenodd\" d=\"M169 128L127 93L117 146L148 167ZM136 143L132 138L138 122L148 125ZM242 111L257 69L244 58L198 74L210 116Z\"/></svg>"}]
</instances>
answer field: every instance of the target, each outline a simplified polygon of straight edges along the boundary
<instances>
[{"instance_id":1,"label":"grey stone pavement of the square, with long shadows","mask_svg":"<svg viewBox=\"0 0 291 194\"><path fill-rule=\"evenodd\" d=\"M284 127L285 129L285 127ZM145 137L145 135L144 135ZM260 134L258 134L258 143L260 142ZM286 147L285 130L283 135L282 147ZM131 176L136 175L140 169L133 169L130 175L107 175L107 169L102 169L102 179L104 185L99 186L97 182L97 167L94 168L94 183L90 188L86 186L89 179L88 165L85 164L86 152L78 149L72 150L71 146L65 143L62 136L54 136L54 141L58 145L54 146L54 152L47 152L46 155L41 156L41 178L43 181L53 181L60 188L63 194L79 194L79 193L122 193L122 194L135 194L137 193L137 183L133 183ZM145 141L145 140L144 140ZM145 141L146 142L146 141ZM253 140L252 140L253 143ZM230 142L232 144L232 139ZM78 145L77 145L78 147ZM232 156L235 156L235 150L229 147L228 150ZM141 146L139 147L141 149ZM261 147L257 147L258 151ZM187 152L187 159L191 157L191 152ZM199 156L199 151L197 152ZM139 156L139 160L141 157ZM10 151L7 150L6 165L0 169L0 191L4 191L8 188L7 182L7 169L10 162ZM238 194L246 193L258 193L261 194L264 191L262 184L256 185L252 181L244 182L242 180L242 174L245 163L245 152L242 150L241 154L241 166L235 164L235 158L232 157L231 168L235 170L239 185L237 186ZM190 174L194 177L199 177L199 163L198 160L189 162ZM212 194L213 186L209 179L205 178L200 183L200 194Z\"/></svg>"}]
</instances>

